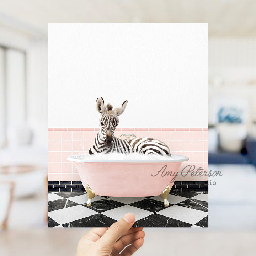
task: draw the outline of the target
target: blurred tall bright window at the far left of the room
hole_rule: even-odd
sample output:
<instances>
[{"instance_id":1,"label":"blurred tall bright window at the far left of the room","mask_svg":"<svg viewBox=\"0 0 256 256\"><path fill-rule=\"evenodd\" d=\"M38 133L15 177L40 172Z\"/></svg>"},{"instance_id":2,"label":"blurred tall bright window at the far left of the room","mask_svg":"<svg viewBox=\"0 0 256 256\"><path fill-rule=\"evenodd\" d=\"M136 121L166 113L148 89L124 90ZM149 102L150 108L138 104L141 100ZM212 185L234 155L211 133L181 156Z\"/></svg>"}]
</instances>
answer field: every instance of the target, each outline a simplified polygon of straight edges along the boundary
<instances>
[{"instance_id":1,"label":"blurred tall bright window at the far left of the room","mask_svg":"<svg viewBox=\"0 0 256 256\"><path fill-rule=\"evenodd\" d=\"M0 46L0 147L27 120L26 52Z\"/></svg>"}]
</instances>

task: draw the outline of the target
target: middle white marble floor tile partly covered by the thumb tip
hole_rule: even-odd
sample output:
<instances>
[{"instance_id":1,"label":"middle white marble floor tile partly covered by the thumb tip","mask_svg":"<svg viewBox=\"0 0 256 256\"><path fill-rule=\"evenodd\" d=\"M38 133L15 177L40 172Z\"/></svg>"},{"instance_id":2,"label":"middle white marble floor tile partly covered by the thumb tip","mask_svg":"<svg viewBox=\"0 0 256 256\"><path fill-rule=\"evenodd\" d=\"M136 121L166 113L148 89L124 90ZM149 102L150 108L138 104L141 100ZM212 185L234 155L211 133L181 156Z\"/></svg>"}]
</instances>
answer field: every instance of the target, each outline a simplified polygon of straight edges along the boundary
<instances>
[{"instance_id":1,"label":"middle white marble floor tile partly covered by the thumb tip","mask_svg":"<svg viewBox=\"0 0 256 256\"><path fill-rule=\"evenodd\" d=\"M127 213L133 213L135 215L135 219L139 220L142 218L145 218L153 213L137 208L137 207L133 207L133 206L129 206L129 205L125 205L125 206L121 206L112 210L108 210L106 212L103 212L102 214L106 215L107 217L110 217L112 219L115 220L119 220L121 218L124 217L124 215L126 215Z\"/></svg>"}]
</instances>

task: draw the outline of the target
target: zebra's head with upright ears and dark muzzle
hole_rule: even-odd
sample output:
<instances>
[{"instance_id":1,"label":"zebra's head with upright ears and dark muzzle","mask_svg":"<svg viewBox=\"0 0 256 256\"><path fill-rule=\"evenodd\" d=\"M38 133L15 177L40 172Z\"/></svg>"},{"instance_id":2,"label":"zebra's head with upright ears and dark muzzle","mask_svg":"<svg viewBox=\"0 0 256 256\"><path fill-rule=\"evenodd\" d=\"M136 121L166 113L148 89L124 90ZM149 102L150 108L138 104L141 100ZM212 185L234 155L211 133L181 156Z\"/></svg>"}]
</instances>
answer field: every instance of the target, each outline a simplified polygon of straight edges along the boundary
<instances>
[{"instance_id":1,"label":"zebra's head with upright ears and dark muzzle","mask_svg":"<svg viewBox=\"0 0 256 256\"><path fill-rule=\"evenodd\" d=\"M124 112L127 103L128 101L124 101L120 107L113 109L112 105L104 104L102 97L98 97L96 100L96 109L101 114L99 134L108 148L114 143L114 131L119 122L118 116Z\"/></svg>"}]
</instances>

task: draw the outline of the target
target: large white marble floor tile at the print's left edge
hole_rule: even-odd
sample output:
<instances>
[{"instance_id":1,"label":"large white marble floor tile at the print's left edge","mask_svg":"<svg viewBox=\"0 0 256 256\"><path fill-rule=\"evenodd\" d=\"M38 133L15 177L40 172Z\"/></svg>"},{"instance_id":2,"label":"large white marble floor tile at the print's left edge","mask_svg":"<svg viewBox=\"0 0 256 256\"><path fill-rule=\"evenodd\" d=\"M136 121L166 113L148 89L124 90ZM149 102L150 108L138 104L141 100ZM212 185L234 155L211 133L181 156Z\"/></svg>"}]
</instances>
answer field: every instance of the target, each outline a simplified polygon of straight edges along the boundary
<instances>
[{"instance_id":1,"label":"large white marble floor tile at the print's left edge","mask_svg":"<svg viewBox=\"0 0 256 256\"><path fill-rule=\"evenodd\" d=\"M85 206L77 205L49 212L48 216L62 225L94 214L97 212Z\"/></svg>"}]
</instances>

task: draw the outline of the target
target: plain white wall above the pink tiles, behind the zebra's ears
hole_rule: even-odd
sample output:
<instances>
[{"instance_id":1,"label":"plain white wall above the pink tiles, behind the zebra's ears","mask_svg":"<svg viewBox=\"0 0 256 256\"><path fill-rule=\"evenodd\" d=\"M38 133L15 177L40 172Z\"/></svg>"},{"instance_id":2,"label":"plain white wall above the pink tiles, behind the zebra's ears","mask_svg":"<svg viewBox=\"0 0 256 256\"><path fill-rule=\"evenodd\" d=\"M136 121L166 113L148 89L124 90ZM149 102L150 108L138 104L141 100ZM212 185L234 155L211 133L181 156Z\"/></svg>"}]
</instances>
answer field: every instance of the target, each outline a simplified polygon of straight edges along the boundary
<instances>
[{"instance_id":1,"label":"plain white wall above the pink tiles, behind the zebra's ears","mask_svg":"<svg viewBox=\"0 0 256 256\"><path fill-rule=\"evenodd\" d=\"M49 23L48 126L208 127L207 23Z\"/></svg>"}]
</instances>

